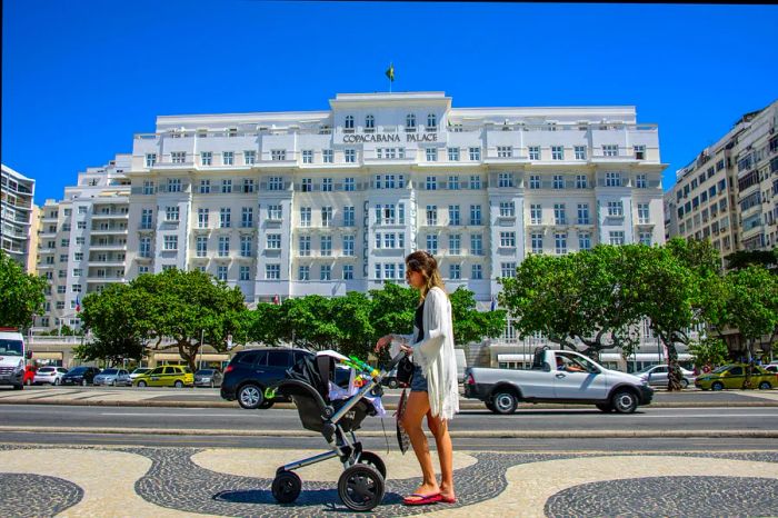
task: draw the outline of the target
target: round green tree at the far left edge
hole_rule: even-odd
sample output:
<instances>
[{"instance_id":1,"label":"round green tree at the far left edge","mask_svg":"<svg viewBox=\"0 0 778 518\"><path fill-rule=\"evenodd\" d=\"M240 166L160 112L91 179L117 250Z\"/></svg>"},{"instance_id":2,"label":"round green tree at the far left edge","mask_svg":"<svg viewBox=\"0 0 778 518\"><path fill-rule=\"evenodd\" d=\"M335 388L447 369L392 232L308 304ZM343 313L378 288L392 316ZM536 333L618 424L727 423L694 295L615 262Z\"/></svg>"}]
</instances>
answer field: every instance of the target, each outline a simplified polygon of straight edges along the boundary
<instances>
[{"instance_id":1,"label":"round green tree at the far left edge","mask_svg":"<svg viewBox=\"0 0 778 518\"><path fill-rule=\"evenodd\" d=\"M26 329L43 311L48 282L24 273L22 267L0 250L0 326Z\"/></svg>"}]
</instances>

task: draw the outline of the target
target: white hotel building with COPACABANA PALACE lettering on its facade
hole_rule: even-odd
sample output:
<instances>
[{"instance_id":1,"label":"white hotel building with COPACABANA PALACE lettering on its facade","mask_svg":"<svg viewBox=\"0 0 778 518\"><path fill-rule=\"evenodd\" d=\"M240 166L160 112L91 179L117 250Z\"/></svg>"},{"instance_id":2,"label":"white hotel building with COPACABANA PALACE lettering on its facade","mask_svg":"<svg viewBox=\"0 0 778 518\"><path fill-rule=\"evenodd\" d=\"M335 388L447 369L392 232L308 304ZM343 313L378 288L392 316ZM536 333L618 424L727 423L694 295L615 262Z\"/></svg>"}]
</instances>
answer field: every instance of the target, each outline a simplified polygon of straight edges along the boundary
<instances>
[{"instance_id":1,"label":"white hotel building with COPACABANA PALACE lettering on its facade","mask_svg":"<svg viewBox=\"0 0 778 518\"><path fill-rule=\"evenodd\" d=\"M635 107L453 108L442 92L329 103L164 116L136 135L111 276L198 268L253 303L399 281L423 249L487 309L528 253L665 240L658 129Z\"/></svg>"}]
</instances>

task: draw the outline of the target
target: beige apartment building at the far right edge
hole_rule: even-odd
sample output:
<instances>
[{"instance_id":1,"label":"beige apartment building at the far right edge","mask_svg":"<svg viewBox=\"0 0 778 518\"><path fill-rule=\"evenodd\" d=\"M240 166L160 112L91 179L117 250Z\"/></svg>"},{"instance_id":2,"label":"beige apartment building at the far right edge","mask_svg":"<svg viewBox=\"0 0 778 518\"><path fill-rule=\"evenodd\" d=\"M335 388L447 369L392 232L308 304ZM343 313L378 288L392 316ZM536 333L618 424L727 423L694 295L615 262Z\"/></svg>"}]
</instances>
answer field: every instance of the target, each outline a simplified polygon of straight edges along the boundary
<instances>
[{"instance_id":1,"label":"beige apartment building at the far right edge","mask_svg":"<svg viewBox=\"0 0 778 518\"><path fill-rule=\"evenodd\" d=\"M722 258L778 239L778 101L744 114L676 173L665 195L667 237L710 239Z\"/></svg>"}]
</instances>

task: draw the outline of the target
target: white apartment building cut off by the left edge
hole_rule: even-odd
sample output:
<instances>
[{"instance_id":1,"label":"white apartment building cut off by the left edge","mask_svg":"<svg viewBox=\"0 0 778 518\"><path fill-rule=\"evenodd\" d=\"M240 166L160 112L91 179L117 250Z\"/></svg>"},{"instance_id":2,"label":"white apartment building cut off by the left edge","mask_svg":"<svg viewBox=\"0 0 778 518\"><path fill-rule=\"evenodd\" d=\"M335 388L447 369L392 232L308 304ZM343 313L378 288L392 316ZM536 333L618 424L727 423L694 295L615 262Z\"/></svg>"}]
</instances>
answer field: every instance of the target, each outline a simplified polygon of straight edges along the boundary
<instances>
[{"instance_id":1,"label":"white apartment building cut off by the left edge","mask_svg":"<svg viewBox=\"0 0 778 518\"><path fill-rule=\"evenodd\" d=\"M32 272L36 181L2 165L0 172L0 249Z\"/></svg>"}]
</instances>

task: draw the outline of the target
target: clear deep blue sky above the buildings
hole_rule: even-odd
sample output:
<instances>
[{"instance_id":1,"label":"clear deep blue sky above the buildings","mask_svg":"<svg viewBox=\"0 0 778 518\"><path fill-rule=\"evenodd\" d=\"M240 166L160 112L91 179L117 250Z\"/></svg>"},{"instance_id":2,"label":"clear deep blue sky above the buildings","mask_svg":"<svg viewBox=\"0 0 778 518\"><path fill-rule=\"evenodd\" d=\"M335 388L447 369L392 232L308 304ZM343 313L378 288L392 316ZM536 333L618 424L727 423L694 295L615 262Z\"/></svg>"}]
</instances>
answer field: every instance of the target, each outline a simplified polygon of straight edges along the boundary
<instances>
[{"instance_id":1,"label":"clear deep blue sky above the buildings","mask_svg":"<svg viewBox=\"0 0 778 518\"><path fill-rule=\"evenodd\" d=\"M436 90L455 107L634 104L675 171L778 99L772 6L3 0L2 161L61 199L179 113L328 109Z\"/></svg>"}]
</instances>

